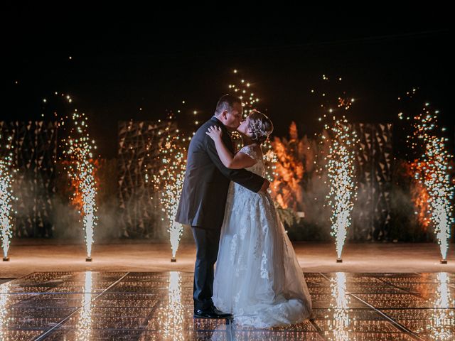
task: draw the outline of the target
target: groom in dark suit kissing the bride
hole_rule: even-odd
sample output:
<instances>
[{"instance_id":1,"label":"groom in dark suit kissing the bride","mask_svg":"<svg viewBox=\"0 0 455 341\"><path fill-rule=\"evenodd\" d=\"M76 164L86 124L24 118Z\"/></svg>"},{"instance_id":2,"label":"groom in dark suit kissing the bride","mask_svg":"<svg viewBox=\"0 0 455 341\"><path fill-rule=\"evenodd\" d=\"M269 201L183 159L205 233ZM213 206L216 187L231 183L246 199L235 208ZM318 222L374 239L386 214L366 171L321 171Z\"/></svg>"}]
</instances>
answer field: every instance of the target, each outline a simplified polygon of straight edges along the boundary
<instances>
[{"instance_id":1,"label":"groom in dark suit kissing the bride","mask_svg":"<svg viewBox=\"0 0 455 341\"><path fill-rule=\"evenodd\" d=\"M176 222L191 225L196 242L193 300L195 318L230 318L213 305L213 266L218 256L221 225L230 181L257 193L265 192L269 181L245 169L226 168L218 157L215 144L205 134L209 126L223 131L225 146L234 153L228 131L235 131L242 121L240 98L225 94L216 106L214 116L206 121L191 139L188 147L183 190L178 203Z\"/></svg>"}]
</instances>

